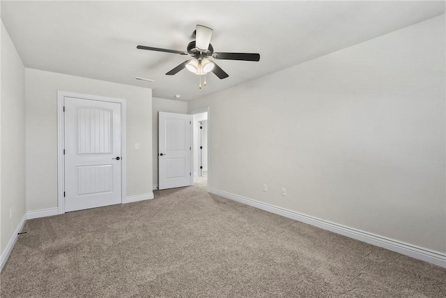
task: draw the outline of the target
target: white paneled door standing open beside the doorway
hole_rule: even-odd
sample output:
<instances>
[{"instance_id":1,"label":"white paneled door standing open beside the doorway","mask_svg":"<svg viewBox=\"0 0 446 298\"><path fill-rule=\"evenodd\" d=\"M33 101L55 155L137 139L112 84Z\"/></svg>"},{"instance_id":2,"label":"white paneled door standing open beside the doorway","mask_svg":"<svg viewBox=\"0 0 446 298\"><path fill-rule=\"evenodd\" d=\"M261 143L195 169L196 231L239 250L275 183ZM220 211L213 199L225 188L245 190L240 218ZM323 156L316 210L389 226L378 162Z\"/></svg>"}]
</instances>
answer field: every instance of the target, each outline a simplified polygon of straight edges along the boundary
<instances>
[{"instance_id":1,"label":"white paneled door standing open beside the doorway","mask_svg":"<svg viewBox=\"0 0 446 298\"><path fill-rule=\"evenodd\" d=\"M192 185L192 116L158 114L158 188Z\"/></svg>"}]
</instances>

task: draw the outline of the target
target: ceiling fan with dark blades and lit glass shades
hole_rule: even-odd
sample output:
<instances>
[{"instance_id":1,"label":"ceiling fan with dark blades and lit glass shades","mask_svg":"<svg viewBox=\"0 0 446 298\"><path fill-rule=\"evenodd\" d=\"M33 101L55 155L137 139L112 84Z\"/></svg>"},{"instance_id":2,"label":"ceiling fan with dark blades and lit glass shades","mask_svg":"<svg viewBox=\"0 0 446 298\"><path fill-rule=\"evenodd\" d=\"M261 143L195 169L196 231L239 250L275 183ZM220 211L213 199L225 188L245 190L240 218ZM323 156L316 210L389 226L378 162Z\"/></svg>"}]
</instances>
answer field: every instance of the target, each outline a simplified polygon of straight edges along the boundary
<instances>
[{"instance_id":1,"label":"ceiling fan with dark blades and lit glass shades","mask_svg":"<svg viewBox=\"0 0 446 298\"><path fill-rule=\"evenodd\" d=\"M227 52L214 52L213 46L210 44L210 37L212 36L213 29L208 27L198 25L194 31L195 40L192 40L187 45L187 52L162 49L160 47L146 47L145 45L138 45L137 49L140 50L150 50L157 52L167 52L180 55L189 55L192 59L184 61L182 64L176 66L174 69L170 70L166 75L175 75L183 68L187 68L191 73L196 75L206 75L206 73L212 72L220 79L229 77L229 75L217 66L213 59L224 59L224 60L243 60L243 61L259 61L260 54L257 53L227 53ZM206 80L204 82L206 85ZM201 88L201 79L200 85Z\"/></svg>"}]
</instances>

